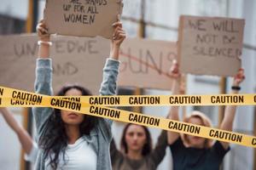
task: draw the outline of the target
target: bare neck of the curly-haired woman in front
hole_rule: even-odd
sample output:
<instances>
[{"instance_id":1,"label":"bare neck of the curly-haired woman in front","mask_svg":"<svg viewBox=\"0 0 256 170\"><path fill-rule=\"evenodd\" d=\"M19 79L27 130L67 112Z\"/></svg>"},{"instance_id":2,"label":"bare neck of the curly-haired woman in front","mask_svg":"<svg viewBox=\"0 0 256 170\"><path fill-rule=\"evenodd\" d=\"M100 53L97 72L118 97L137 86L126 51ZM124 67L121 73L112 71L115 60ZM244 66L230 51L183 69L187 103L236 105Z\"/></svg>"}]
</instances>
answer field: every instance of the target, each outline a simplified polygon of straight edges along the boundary
<instances>
[{"instance_id":1,"label":"bare neck of the curly-haired woman in front","mask_svg":"<svg viewBox=\"0 0 256 170\"><path fill-rule=\"evenodd\" d=\"M77 125L66 125L68 144L74 144L80 138L80 129Z\"/></svg>"}]
</instances>

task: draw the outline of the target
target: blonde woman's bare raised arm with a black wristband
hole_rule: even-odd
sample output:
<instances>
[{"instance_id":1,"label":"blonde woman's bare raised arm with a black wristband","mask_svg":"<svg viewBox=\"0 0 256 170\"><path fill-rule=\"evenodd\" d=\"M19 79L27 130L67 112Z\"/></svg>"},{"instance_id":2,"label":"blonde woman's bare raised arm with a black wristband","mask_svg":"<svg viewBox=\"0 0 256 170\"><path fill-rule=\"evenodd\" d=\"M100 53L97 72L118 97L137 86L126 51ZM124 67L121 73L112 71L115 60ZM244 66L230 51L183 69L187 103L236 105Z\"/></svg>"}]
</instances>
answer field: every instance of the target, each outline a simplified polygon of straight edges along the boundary
<instances>
[{"instance_id":1,"label":"blonde woman's bare raised arm with a black wristband","mask_svg":"<svg viewBox=\"0 0 256 170\"><path fill-rule=\"evenodd\" d=\"M240 90L240 84L245 79L244 70L240 69L236 76L234 77L233 84L232 84L232 91L231 94L238 94ZM232 131L233 130L233 122L236 116L236 105L227 105L224 111L224 119L221 122L220 129ZM229 143L220 142L224 149L228 149Z\"/></svg>"}]
</instances>

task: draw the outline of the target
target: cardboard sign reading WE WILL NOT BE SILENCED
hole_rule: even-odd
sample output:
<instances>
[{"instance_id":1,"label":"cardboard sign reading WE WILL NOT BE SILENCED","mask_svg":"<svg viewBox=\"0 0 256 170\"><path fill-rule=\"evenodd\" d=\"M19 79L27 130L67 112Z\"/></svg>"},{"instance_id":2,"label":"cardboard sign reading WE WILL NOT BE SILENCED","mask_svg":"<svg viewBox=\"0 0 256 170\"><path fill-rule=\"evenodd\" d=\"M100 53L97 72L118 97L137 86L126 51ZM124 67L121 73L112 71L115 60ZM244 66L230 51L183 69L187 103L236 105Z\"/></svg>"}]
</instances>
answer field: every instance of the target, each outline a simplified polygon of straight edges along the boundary
<instances>
[{"instance_id":1,"label":"cardboard sign reading WE WILL NOT BE SILENCED","mask_svg":"<svg viewBox=\"0 0 256 170\"><path fill-rule=\"evenodd\" d=\"M245 20L181 16L178 61L184 73L234 76L241 67Z\"/></svg>"}]
</instances>

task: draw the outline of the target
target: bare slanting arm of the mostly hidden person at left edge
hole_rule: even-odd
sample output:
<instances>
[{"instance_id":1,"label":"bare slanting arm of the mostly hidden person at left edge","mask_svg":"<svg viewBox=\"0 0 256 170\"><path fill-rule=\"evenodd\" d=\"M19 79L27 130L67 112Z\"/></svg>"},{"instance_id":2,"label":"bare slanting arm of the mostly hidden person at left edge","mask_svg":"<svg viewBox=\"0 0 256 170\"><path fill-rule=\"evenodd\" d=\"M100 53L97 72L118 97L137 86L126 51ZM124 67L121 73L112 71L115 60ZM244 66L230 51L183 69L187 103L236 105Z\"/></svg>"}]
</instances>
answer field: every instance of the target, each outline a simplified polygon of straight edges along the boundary
<instances>
[{"instance_id":1,"label":"bare slanting arm of the mostly hidden person at left edge","mask_svg":"<svg viewBox=\"0 0 256 170\"><path fill-rule=\"evenodd\" d=\"M22 149L29 155L32 151L33 141L30 135L26 132L26 129L22 127L16 120L12 113L7 108L0 108L5 122L11 127L17 134Z\"/></svg>"}]
</instances>

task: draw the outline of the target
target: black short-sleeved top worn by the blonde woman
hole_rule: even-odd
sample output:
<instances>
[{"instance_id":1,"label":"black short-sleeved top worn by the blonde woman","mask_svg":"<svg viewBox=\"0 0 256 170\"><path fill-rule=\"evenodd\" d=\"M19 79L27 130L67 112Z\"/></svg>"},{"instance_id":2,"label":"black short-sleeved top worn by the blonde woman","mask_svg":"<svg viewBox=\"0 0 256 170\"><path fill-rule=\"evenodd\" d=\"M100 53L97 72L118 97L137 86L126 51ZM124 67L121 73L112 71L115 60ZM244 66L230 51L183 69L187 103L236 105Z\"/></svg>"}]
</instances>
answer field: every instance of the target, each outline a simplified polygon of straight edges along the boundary
<instances>
[{"instance_id":1,"label":"black short-sleeved top worn by the blonde woman","mask_svg":"<svg viewBox=\"0 0 256 170\"><path fill-rule=\"evenodd\" d=\"M182 139L169 145L172 152L173 170L218 170L225 154L223 145L216 141L209 149L186 148Z\"/></svg>"}]
</instances>

